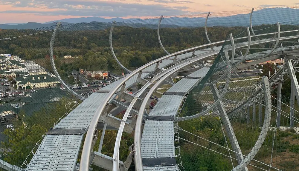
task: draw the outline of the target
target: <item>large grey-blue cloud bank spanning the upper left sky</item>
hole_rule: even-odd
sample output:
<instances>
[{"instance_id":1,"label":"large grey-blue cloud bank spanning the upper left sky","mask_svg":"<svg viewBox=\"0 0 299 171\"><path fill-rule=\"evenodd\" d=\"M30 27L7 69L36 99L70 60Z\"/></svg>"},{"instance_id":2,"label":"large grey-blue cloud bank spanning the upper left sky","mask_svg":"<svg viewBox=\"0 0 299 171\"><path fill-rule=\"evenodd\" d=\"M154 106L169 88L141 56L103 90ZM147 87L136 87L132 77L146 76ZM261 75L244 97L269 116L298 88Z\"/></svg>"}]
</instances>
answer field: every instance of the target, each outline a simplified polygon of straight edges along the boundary
<instances>
[{"instance_id":1,"label":"large grey-blue cloud bank spanning the upper left sky","mask_svg":"<svg viewBox=\"0 0 299 171\"><path fill-rule=\"evenodd\" d=\"M51 16L171 16L189 13L189 11L187 10L188 7L168 7L161 4L129 4L120 1L115 2L91 0L0 0L0 4L8 4L12 5L13 7L33 7L45 9L43 11L11 10L1 11L1 13L33 13L37 15Z\"/></svg>"}]
</instances>

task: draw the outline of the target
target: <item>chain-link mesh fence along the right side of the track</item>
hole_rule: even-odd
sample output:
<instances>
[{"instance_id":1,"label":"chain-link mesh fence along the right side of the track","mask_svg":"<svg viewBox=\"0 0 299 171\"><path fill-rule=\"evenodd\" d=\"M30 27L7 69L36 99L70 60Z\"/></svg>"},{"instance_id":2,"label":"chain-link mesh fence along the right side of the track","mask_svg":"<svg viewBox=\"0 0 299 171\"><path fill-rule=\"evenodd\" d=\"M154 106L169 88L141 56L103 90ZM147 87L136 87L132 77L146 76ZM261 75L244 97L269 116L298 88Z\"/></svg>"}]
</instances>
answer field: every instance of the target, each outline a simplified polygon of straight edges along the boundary
<instances>
[{"instance_id":1,"label":"chain-link mesh fence along the right side of the track","mask_svg":"<svg viewBox=\"0 0 299 171\"><path fill-rule=\"evenodd\" d=\"M290 96L286 93L290 92L291 82L284 72L284 57L268 56L298 49L298 24L295 21L281 23L280 35L261 35L278 32L277 24L254 26L254 33L259 36L251 38L248 53L248 38L242 38L247 36L247 30L242 29L244 31L232 34L234 44L227 36L219 55L207 59L213 65L188 93L180 111L177 138L180 139L181 170L232 170L240 163L241 168L246 169L243 165L246 160L248 170L297 170L299 167L295 150L298 146L297 104L295 119L290 119L292 102L286 98ZM295 31L284 33L286 30ZM276 41L278 36L281 40L288 36L293 39L280 44ZM232 50L233 46L236 50ZM266 56L266 60L255 62ZM297 58L292 63L296 68ZM266 89L262 76L269 78ZM277 85L281 81L285 92L282 91L282 98L278 100ZM271 99L270 103L266 103L265 97ZM278 110L280 125L277 125ZM292 120L294 124L290 128ZM266 124L268 132L265 132Z\"/></svg>"}]
</instances>

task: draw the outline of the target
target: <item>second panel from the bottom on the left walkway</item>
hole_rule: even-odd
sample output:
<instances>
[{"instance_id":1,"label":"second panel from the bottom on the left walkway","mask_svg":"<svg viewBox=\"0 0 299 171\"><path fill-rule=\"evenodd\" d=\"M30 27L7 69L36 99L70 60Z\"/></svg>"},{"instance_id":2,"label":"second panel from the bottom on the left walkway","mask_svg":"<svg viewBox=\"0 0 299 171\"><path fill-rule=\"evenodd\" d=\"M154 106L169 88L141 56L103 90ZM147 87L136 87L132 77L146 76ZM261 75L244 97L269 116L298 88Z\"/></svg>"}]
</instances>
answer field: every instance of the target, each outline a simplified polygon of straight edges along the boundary
<instances>
[{"instance_id":1,"label":"second panel from the bottom on the left walkway","mask_svg":"<svg viewBox=\"0 0 299 171\"><path fill-rule=\"evenodd\" d=\"M107 93L92 93L54 128L87 128Z\"/></svg>"}]
</instances>

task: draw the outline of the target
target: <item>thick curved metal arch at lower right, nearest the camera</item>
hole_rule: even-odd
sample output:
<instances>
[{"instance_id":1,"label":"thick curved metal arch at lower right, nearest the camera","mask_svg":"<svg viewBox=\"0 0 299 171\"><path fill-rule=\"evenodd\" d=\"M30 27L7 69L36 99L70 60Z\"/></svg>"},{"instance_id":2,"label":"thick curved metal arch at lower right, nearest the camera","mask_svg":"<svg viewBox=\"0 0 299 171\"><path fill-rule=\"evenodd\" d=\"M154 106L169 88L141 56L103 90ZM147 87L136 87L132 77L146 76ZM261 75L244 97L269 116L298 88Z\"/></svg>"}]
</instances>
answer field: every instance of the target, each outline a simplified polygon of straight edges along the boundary
<instances>
[{"instance_id":1,"label":"thick curved metal arch at lower right, nearest the camera","mask_svg":"<svg viewBox=\"0 0 299 171\"><path fill-rule=\"evenodd\" d=\"M260 132L259 138L257 138L257 142L255 143L254 147L251 149L249 154L246 156L242 162L236 166L232 171L236 170L242 170L244 167L246 167L254 158L255 155L257 155L257 152L262 147L263 142L266 139L266 135L269 130L270 120L271 120L271 94L270 94L270 87L269 87L269 81L268 77L264 76L262 77L263 83L264 83L264 90L265 91L265 119L264 124L262 127L262 130Z\"/></svg>"}]
</instances>

